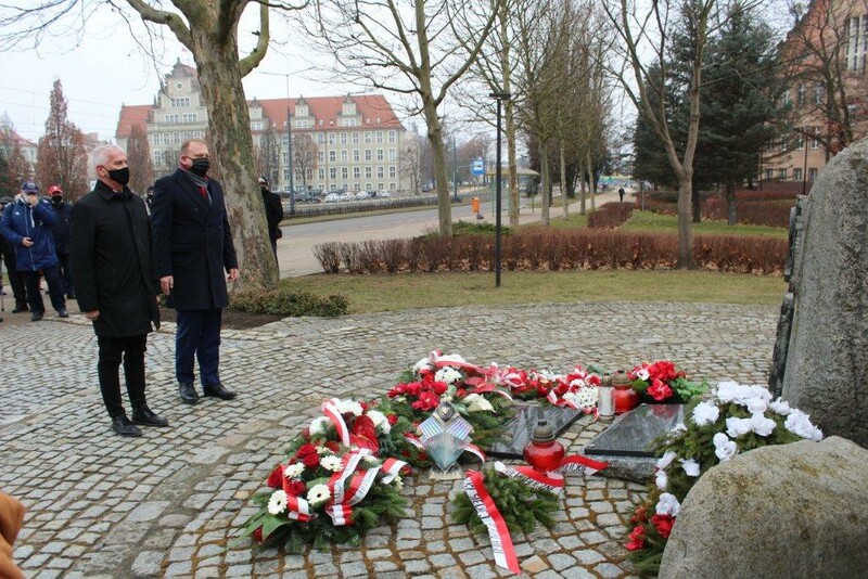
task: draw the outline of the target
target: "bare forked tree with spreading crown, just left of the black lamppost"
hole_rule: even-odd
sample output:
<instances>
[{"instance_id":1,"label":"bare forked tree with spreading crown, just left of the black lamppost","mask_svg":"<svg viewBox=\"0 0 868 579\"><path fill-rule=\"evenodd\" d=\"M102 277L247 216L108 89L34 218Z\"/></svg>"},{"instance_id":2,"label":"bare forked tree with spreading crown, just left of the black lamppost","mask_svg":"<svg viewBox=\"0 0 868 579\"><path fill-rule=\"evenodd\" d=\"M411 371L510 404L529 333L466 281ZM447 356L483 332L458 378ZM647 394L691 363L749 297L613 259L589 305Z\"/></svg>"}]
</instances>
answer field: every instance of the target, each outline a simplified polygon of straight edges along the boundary
<instances>
[{"instance_id":1,"label":"bare forked tree with spreading crown, just left of the black lamppost","mask_svg":"<svg viewBox=\"0 0 868 579\"><path fill-rule=\"evenodd\" d=\"M473 64L503 0L317 0L315 37L349 80L416 99L434 155L439 233L451 236L439 106ZM467 39L470 39L469 41Z\"/></svg>"}]
</instances>

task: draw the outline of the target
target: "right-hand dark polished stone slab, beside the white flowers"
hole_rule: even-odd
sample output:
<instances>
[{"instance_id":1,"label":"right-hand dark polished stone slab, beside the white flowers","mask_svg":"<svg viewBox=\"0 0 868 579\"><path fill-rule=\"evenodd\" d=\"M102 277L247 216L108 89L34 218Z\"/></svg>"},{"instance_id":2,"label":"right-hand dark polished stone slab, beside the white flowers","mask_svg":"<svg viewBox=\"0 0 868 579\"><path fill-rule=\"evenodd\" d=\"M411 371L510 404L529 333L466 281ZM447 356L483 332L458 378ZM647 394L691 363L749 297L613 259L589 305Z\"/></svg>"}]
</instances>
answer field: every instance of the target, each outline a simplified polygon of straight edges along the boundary
<instances>
[{"instance_id":1,"label":"right-hand dark polished stone slab, beside the white flowers","mask_svg":"<svg viewBox=\"0 0 868 579\"><path fill-rule=\"evenodd\" d=\"M585 454L652 456L648 446L682 422L684 404L642 404L597 435L585 447Z\"/></svg>"}]
</instances>

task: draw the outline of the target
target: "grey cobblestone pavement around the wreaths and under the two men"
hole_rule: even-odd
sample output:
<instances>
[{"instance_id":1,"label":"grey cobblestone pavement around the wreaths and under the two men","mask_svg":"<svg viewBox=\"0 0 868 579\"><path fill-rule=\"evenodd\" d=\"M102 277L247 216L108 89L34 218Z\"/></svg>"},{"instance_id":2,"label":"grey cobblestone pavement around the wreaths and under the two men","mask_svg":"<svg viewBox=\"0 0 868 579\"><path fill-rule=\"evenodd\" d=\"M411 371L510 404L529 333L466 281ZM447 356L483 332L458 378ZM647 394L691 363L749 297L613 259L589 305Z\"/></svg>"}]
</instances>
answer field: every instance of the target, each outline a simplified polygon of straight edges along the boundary
<instances>
[{"instance_id":1,"label":"grey cobblestone pavement around the wreaths and under the two men","mask_svg":"<svg viewBox=\"0 0 868 579\"><path fill-rule=\"evenodd\" d=\"M497 577L487 538L449 519L459 483L410 477L410 509L358 548L286 555L227 549L247 498L290 437L331 396L372 397L430 350L469 360L567 370L672 358L691 376L764 382L776 308L574 304L427 309L289 319L224 332L231 402L180 403L173 331L149 338L149 401L170 421L139 439L110 430L95 339L81 316L2 329L0 489L27 506L15 558L28 577ZM61 357L61 352L65 356ZM603 425L563 436L579 451ZM526 576L627 577L627 522L643 488L567 476L552 529L514 537Z\"/></svg>"}]
</instances>

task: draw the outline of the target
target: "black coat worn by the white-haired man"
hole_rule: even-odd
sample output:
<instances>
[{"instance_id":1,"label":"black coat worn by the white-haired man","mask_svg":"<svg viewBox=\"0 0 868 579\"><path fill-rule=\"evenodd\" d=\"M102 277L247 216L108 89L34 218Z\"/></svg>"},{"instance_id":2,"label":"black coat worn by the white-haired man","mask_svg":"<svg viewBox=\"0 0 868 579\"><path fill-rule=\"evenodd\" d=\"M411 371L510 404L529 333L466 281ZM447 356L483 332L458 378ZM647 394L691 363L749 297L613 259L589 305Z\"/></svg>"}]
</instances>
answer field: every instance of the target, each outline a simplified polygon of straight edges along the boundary
<instances>
[{"instance_id":1,"label":"black coat worn by the white-haired man","mask_svg":"<svg viewBox=\"0 0 868 579\"><path fill-rule=\"evenodd\" d=\"M102 181L73 208L69 270L81 311L100 310L100 337L146 334L159 327L159 282L144 202Z\"/></svg>"}]
</instances>

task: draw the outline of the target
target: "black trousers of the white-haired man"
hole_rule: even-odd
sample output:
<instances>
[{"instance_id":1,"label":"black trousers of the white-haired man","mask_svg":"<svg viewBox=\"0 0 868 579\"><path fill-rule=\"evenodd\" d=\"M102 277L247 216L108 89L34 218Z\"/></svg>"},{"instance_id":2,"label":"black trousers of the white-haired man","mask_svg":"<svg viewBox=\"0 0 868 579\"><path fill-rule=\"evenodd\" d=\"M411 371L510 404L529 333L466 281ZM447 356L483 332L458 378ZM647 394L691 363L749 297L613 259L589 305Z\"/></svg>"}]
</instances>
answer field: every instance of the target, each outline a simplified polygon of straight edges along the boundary
<instances>
[{"instance_id":1,"label":"black trousers of the white-haired man","mask_svg":"<svg viewBox=\"0 0 868 579\"><path fill-rule=\"evenodd\" d=\"M100 376L100 391L105 402L105 410L113 419L126 414L120 401L120 376L118 370L124 360L124 378L127 383L127 395L132 408L141 408L144 399L144 351L148 334L130 337L97 337L100 346L100 358L97 372Z\"/></svg>"}]
</instances>

